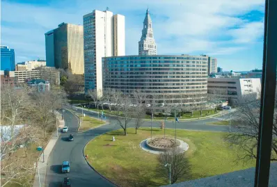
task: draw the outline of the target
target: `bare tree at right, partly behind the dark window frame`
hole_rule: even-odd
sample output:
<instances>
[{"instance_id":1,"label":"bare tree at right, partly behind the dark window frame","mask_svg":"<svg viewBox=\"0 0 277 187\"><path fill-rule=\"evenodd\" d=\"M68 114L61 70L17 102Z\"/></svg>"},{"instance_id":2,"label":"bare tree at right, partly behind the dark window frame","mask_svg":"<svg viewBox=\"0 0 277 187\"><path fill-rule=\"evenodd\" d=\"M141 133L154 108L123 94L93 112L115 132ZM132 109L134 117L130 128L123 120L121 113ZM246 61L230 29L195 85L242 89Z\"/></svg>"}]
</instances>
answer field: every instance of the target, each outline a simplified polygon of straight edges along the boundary
<instances>
[{"instance_id":1,"label":"bare tree at right, partly behind the dark window frame","mask_svg":"<svg viewBox=\"0 0 277 187\"><path fill-rule=\"evenodd\" d=\"M277 97L276 97L277 98ZM233 125L235 132L225 136L230 145L237 145L244 152L238 152L238 160L257 158L258 131L260 119L260 99L254 95L247 95L240 99L237 107L237 122ZM275 100L273 132L271 143L271 161L277 161L277 100Z\"/></svg>"}]
</instances>

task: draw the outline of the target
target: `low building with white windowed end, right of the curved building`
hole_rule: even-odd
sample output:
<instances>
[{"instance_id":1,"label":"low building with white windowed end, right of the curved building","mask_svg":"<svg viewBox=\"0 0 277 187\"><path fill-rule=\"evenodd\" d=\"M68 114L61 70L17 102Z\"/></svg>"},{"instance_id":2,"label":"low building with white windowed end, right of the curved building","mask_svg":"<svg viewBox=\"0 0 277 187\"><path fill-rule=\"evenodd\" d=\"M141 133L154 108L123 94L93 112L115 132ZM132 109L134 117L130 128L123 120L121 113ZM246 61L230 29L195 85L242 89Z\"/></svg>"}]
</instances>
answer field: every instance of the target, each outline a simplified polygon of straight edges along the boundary
<instances>
[{"instance_id":1,"label":"low building with white windowed end, right of the curved building","mask_svg":"<svg viewBox=\"0 0 277 187\"><path fill-rule=\"evenodd\" d=\"M243 95L252 94L259 97L261 83L260 79L241 79L241 78L208 78L207 93L208 97L222 100L237 100Z\"/></svg>"}]
</instances>

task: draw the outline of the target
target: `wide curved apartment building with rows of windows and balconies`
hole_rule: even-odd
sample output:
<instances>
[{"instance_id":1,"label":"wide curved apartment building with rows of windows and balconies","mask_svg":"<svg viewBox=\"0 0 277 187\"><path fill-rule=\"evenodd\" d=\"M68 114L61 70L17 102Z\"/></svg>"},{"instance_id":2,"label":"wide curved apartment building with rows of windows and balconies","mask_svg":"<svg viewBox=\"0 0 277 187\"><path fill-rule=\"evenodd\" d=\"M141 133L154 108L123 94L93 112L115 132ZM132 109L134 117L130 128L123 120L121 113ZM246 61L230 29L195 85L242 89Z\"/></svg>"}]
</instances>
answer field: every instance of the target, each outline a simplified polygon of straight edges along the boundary
<instances>
[{"instance_id":1,"label":"wide curved apartment building with rows of windows and balconies","mask_svg":"<svg viewBox=\"0 0 277 187\"><path fill-rule=\"evenodd\" d=\"M129 95L139 90L155 104L185 106L207 99L205 56L112 56L102 60L104 90Z\"/></svg>"}]
</instances>

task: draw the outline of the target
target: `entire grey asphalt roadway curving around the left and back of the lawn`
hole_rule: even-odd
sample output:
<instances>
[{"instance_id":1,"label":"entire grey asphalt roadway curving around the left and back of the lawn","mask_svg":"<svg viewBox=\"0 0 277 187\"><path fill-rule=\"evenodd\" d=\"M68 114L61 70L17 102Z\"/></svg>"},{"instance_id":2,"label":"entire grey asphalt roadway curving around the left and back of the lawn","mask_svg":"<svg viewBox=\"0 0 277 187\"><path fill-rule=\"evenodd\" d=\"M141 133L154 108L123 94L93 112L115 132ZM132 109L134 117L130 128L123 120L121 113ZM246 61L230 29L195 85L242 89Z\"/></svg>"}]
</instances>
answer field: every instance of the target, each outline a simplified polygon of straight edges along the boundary
<instances>
[{"instance_id":1,"label":"entire grey asphalt roadway curving around the left and back of the lawn","mask_svg":"<svg viewBox=\"0 0 277 187\"><path fill-rule=\"evenodd\" d=\"M72 108L71 108L72 109ZM81 109L74 108L73 110L81 113ZM91 113L84 111L86 115L97 117L97 113ZM223 115L222 117L228 118L229 115ZM45 186L56 187L61 186L64 177L70 177L72 186L90 187L90 186L114 186L111 182L101 177L95 172L88 163L83 155L83 149L91 139L99 136L102 133L120 129L120 126L116 124L116 120L112 117L107 116L106 124L96 129L85 131L84 133L77 133L78 120L72 113L65 110L63 113L65 125L69 127L67 133L61 133L59 139L56 142L51 154L49 155L49 161L47 165L47 177ZM221 120L221 116L209 118L206 120L193 120L189 122L177 122L177 129L188 129L196 131L229 131L228 126L221 125L207 125L207 122L214 122ZM152 127L159 127L159 122L152 122ZM175 128L175 122L166 122L166 128ZM145 122L143 127L150 127L151 122ZM130 122L129 127L134 127L134 122ZM70 133L74 136L74 141L69 142L67 140ZM70 172L66 174L61 173L61 163L63 161L70 161Z\"/></svg>"}]
</instances>

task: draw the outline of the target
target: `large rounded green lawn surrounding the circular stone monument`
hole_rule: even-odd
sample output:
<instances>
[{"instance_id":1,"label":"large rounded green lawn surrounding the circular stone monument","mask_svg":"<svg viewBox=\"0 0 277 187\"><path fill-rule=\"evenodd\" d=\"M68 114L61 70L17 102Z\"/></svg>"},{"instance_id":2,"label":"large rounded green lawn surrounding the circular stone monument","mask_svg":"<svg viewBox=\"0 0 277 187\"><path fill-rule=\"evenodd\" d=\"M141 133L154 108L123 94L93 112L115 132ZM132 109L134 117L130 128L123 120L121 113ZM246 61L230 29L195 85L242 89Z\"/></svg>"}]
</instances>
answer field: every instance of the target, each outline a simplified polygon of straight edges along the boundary
<instances>
[{"instance_id":1,"label":"large rounded green lawn surrounding the circular stone monument","mask_svg":"<svg viewBox=\"0 0 277 187\"><path fill-rule=\"evenodd\" d=\"M153 136L164 131L153 129ZM174 129L166 129L168 136L174 136ZM191 176L178 181L199 179L255 166L255 160L235 163L237 148L228 147L223 142L225 133L177 130L177 138L189 144L186 152L191 164ZM112 136L116 141L112 142ZM139 143L150 137L150 128L111 131L98 136L86 146L85 154L93 167L120 186L162 186L168 184L168 177L158 172L156 154L150 154L139 147Z\"/></svg>"}]
</instances>

